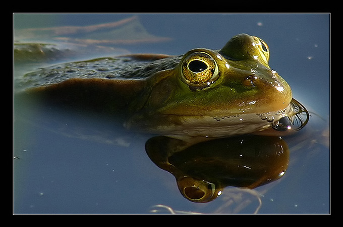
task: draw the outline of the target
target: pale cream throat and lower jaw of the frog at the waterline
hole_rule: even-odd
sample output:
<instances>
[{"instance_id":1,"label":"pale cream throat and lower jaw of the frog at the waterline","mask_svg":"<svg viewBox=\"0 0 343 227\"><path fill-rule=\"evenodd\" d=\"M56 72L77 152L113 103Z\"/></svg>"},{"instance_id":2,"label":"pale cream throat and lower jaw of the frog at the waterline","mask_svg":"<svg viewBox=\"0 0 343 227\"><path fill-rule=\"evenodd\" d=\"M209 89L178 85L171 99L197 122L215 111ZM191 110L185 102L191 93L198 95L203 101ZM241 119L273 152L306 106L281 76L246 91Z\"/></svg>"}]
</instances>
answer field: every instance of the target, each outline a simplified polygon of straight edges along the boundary
<instances>
[{"instance_id":1,"label":"pale cream throat and lower jaw of the frog at the waterline","mask_svg":"<svg viewBox=\"0 0 343 227\"><path fill-rule=\"evenodd\" d=\"M296 100L295 100L296 101ZM281 118L298 114L294 101L285 108L263 113L244 113L233 116L172 116L158 117L163 124L153 123L137 125L144 132L160 134L173 138L205 137L222 138L243 134L253 134L272 128ZM157 119L157 118L156 118ZM155 121L156 121L155 119ZM136 128L135 123L126 124L128 128Z\"/></svg>"}]
</instances>

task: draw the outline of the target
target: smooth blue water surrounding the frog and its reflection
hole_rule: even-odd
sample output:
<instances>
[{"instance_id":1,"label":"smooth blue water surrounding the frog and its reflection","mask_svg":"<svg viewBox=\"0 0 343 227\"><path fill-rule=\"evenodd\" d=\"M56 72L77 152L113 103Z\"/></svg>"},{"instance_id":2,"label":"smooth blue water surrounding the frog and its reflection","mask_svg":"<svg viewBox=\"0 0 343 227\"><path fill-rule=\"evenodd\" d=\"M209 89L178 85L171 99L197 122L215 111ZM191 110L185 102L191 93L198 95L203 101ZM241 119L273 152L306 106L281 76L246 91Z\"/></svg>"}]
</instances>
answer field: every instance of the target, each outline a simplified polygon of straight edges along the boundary
<instances>
[{"instance_id":1,"label":"smooth blue water surrounding the frog and its reflection","mask_svg":"<svg viewBox=\"0 0 343 227\"><path fill-rule=\"evenodd\" d=\"M15 15L14 28L94 25L131 16ZM144 146L149 135L123 133L106 121L19 103L14 115L14 156L19 158L13 162L13 212L329 213L330 15L139 14L138 18L149 34L171 39L116 48L180 55L197 47L220 49L239 33L262 38L270 48L269 65L288 81L294 97L316 113L306 126L313 133L301 133L300 140L285 139L291 148L290 165L280 180L253 191L229 187L214 201L199 204L182 197L174 176L147 157Z\"/></svg>"}]
</instances>

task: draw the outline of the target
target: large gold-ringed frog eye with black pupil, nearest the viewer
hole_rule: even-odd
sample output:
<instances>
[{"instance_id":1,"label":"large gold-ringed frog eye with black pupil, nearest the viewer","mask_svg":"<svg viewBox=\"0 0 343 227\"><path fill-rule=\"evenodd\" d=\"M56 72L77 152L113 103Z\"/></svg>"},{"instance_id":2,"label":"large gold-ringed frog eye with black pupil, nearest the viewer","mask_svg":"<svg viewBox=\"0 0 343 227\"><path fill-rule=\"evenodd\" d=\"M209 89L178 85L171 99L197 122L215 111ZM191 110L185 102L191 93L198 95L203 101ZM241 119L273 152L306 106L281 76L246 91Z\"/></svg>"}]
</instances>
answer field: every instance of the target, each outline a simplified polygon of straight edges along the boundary
<instances>
[{"instance_id":1,"label":"large gold-ringed frog eye with black pupil, nearest the viewer","mask_svg":"<svg viewBox=\"0 0 343 227\"><path fill-rule=\"evenodd\" d=\"M211 55L194 52L181 62L182 80L191 86L208 86L218 78L218 66Z\"/></svg>"}]
</instances>

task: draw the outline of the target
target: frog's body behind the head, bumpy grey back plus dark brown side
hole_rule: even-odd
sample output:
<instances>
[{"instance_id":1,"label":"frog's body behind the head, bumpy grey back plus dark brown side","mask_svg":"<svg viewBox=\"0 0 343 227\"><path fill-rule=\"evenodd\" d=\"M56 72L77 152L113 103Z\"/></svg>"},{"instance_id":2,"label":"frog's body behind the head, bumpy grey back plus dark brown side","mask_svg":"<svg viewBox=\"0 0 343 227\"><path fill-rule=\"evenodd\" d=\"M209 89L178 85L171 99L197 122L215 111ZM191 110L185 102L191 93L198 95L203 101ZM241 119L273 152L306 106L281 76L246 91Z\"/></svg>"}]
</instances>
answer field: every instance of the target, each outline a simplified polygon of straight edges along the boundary
<instances>
[{"instance_id":1,"label":"frog's body behind the head, bumpy grey back plus dark brown side","mask_svg":"<svg viewBox=\"0 0 343 227\"><path fill-rule=\"evenodd\" d=\"M148 89L145 78L176 67L179 61L174 56L138 54L53 65L25 74L17 81L15 94L47 105L127 115Z\"/></svg>"}]
</instances>

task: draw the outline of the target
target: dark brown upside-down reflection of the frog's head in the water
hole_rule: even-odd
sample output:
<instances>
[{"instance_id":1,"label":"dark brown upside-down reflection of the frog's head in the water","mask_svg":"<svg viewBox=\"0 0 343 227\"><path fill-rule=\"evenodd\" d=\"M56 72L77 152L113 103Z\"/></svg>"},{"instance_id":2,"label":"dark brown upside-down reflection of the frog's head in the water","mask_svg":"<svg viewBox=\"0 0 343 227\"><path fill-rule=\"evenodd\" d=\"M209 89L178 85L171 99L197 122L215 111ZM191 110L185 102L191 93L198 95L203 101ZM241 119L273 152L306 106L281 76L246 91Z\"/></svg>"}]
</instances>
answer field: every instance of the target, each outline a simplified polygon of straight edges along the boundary
<instances>
[{"instance_id":1,"label":"dark brown upside-down reflection of the frog's head in the water","mask_svg":"<svg viewBox=\"0 0 343 227\"><path fill-rule=\"evenodd\" d=\"M193 202L209 202L227 186L256 188L277 180L289 163L288 146L279 137L240 136L192 145L159 136L149 139L145 149Z\"/></svg>"}]
</instances>

